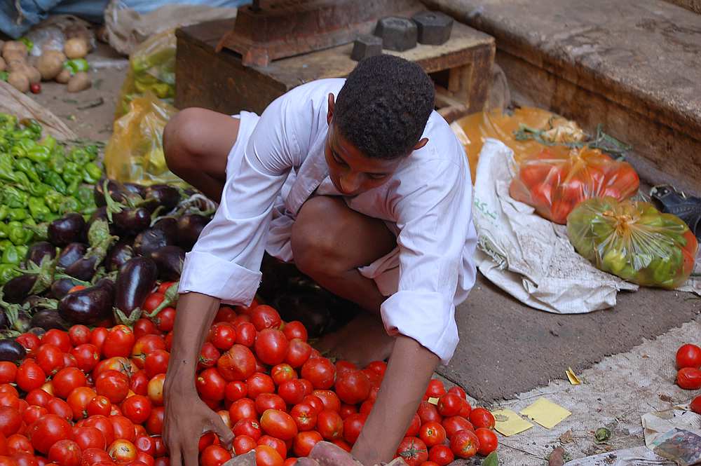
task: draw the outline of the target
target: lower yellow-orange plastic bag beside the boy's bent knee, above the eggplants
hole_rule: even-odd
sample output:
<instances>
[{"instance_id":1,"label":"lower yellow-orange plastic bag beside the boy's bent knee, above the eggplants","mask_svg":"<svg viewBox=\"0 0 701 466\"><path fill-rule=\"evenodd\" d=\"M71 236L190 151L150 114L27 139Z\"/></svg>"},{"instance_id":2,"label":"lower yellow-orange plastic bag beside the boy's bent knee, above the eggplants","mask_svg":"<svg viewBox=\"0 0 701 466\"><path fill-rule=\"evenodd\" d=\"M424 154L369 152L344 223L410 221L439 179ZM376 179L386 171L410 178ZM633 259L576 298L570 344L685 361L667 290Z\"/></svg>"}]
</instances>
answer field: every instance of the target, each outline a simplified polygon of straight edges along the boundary
<instances>
[{"instance_id":1,"label":"lower yellow-orange plastic bag beside the boy's bent knee, above the eggplants","mask_svg":"<svg viewBox=\"0 0 701 466\"><path fill-rule=\"evenodd\" d=\"M137 97L126 115L114 122L114 132L104 151L107 176L122 183L179 184L165 164L163 128L177 109L152 94Z\"/></svg>"}]
</instances>

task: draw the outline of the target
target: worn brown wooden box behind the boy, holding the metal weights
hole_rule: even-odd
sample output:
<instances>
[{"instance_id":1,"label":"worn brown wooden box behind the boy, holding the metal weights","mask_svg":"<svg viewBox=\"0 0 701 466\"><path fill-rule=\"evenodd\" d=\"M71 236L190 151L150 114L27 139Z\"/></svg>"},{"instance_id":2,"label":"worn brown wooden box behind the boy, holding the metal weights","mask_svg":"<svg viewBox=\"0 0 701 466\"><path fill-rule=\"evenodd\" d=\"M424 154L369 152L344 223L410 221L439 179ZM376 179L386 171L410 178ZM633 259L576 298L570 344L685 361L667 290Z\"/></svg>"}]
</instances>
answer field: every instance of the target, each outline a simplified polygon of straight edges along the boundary
<instances>
[{"instance_id":1,"label":"worn brown wooden box behind the boy, holding the metal weights","mask_svg":"<svg viewBox=\"0 0 701 466\"><path fill-rule=\"evenodd\" d=\"M353 44L276 60L266 67L244 67L240 55L215 52L233 20L206 22L177 29L175 106L204 107L225 114L241 110L260 114L276 97L320 78L348 76L357 62ZM436 83L436 104L452 120L482 110L489 92L494 39L455 22L449 41L405 52L385 50L426 69Z\"/></svg>"}]
</instances>

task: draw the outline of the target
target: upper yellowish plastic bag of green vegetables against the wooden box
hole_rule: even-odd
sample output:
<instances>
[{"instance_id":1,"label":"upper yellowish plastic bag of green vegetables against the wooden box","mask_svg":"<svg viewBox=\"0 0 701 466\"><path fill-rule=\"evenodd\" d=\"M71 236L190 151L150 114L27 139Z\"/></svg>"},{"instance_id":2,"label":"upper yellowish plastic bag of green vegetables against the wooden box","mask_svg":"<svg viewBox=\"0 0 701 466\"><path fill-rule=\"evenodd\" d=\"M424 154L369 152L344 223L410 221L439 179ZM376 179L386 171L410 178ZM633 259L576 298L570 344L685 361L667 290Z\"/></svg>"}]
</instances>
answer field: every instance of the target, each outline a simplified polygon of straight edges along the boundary
<instances>
[{"instance_id":1,"label":"upper yellowish plastic bag of green vegetables against the wooden box","mask_svg":"<svg viewBox=\"0 0 701 466\"><path fill-rule=\"evenodd\" d=\"M129 102L146 92L172 104L175 97L175 48L175 29L169 29L150 37L129 55L129 70L119 92L115 120L129 111Z\"/></svg>"}]
</instances>

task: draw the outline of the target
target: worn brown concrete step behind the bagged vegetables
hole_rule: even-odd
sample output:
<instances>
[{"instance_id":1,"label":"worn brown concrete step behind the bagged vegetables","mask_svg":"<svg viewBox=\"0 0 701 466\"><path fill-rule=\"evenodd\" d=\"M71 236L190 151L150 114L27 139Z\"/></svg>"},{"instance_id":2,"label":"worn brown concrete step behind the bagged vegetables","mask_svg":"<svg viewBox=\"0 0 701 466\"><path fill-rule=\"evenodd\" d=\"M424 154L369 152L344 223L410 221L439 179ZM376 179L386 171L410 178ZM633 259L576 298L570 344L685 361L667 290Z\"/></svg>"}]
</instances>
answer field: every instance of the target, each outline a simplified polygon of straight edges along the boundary
<instances>
[{"instance_id":1,"label":"worn brown concrete step behind the bagged vegetables","mask_svg":"<svg viewBox=\"0 0 701 466\"><path fill-rule=\"evenodd\" d=\"M515 104L634 146L650 184L701 192L701 15L663 0L424 0L496 38ZM675 1L675 3L682 3Z\"/></svg>"}]
</instances>

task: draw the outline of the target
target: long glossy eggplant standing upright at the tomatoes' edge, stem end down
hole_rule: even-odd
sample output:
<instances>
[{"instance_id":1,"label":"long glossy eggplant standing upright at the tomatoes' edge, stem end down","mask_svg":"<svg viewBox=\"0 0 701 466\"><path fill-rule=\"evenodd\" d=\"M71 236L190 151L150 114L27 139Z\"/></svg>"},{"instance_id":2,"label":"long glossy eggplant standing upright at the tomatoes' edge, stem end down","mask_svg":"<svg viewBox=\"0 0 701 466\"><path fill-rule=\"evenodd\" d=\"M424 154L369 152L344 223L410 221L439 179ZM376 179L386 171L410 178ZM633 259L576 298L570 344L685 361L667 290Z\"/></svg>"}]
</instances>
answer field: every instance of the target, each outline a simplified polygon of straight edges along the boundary
<instances>
[{"instance_id":1,"label":"long glossy eggplant standing upright at the tomatoes' edge, stem end down","mask_svg":"<svg viewBox=\"0 0 701 466\"><path fill-rule=\"evenodd\" d=\"M119 269L114 305L127 320L140 308L156 285L158 267L147 257L135 257Z\"/></svg>"}]
</instances>

